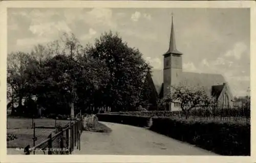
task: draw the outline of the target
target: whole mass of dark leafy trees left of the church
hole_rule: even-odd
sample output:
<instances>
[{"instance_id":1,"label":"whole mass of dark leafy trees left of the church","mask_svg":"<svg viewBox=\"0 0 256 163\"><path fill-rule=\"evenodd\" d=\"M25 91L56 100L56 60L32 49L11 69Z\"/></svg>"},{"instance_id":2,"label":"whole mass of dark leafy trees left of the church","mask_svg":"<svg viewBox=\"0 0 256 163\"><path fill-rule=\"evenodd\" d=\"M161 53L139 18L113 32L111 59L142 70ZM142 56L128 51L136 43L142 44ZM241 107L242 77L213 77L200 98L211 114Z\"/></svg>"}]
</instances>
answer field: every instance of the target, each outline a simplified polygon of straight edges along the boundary
<instances>
[{"instance_id":1,"label":"whole mass of dark leafy trees left of the church","mask_svg":"<svg viewBox=\"0 0 256 163\"><path fill-rule=\"evenodd\" d=\"M31 53L8 56L8 96L19 103L25 97L30 104L36 96L36 104L48 114L70 114L70 108L90 105L128 110L140 101L148 70L139 50L118 35L105 33L84 48L73 34L64 34Z\"/></svg>"}]
</instances>

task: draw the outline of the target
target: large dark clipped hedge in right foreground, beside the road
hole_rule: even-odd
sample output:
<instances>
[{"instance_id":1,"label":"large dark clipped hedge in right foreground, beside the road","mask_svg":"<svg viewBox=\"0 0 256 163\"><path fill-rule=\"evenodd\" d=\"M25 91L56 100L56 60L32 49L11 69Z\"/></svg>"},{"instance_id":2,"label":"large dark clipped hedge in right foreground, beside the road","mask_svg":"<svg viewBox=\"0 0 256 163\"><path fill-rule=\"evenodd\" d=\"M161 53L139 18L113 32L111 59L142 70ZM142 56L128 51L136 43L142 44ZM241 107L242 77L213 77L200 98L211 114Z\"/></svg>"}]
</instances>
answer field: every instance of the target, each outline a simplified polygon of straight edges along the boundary
<instances>
[{"instance_id":1,"label":"large dark clipped hedge in right foreground, beside the road","mask_svg":"<svg viewBox=\"0 0 256 163\"><path fill-rule=\"evenodd\" d=\"M250 155L250 124L153 118L151 130L229 156Z\"/></svg>"}]
</instances>

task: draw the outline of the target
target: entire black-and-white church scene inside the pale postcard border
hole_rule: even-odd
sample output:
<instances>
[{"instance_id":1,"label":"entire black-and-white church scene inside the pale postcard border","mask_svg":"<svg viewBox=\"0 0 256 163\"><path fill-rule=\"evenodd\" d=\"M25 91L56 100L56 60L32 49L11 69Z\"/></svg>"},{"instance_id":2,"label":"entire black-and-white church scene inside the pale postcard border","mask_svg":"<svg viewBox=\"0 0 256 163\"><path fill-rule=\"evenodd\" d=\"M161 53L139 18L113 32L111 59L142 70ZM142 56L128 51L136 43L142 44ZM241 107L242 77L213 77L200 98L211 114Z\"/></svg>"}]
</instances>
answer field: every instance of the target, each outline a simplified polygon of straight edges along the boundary
<instances>
[{"instance_id":1,"label":"entire black-and-white church scene inside the pale postcard border","mask_svg":"<svg viewBox=\"0 0 256 163\"><path fill-rule=\"evenodd\" d=\"M7 155L251 155L250 8L7 8Z\"/></svg>"}]
</instances>

